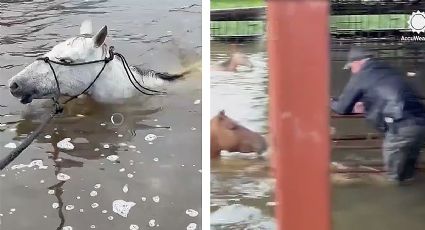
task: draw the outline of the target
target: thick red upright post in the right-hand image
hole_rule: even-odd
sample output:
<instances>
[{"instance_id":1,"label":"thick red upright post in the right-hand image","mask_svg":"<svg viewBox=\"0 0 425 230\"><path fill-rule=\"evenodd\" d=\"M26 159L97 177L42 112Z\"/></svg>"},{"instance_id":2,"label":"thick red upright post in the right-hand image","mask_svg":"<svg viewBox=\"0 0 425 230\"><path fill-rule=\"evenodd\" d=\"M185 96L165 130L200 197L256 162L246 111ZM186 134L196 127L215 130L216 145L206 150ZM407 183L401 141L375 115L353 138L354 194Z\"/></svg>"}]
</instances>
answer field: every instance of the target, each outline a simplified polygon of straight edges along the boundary
<instances>
[{"instance_id":1,"label":"thick red upright post in the right-hand image","mask_svg":"<svg viewBox=\"0 0 425 230\"><path fill-rule=\"evenodd\" d=\"M279 229L330 230L328 1L269 0Z\"/></svg>"}]
</instances>

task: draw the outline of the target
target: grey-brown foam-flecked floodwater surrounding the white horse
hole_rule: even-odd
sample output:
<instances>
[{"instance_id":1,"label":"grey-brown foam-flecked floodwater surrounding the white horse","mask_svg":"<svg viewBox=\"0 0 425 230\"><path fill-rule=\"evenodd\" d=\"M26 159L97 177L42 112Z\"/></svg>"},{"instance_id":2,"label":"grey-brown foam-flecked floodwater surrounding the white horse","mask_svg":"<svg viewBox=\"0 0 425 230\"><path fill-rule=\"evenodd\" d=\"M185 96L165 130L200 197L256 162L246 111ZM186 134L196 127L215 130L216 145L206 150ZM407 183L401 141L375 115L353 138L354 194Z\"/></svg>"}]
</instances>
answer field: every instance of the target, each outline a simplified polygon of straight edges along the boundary
<instances>
[{"instance_id":1,"label":"grey-brown foam-flecked floodwater surrounding the white horse","mask_svg":"<svg viewBox=\"0 0 425 230\"><path fill-rule=\"evenodd\" d=\"M49 101L20 104L8 79L77 35L82 21L108 25L106 43L130 64L177 72L200 61L200 4L0 0L0 156L50 110ZM67 105L0 172L0 229L201 229L201 72L166 89L122 104Z\"/></svg>"}]
</instances>

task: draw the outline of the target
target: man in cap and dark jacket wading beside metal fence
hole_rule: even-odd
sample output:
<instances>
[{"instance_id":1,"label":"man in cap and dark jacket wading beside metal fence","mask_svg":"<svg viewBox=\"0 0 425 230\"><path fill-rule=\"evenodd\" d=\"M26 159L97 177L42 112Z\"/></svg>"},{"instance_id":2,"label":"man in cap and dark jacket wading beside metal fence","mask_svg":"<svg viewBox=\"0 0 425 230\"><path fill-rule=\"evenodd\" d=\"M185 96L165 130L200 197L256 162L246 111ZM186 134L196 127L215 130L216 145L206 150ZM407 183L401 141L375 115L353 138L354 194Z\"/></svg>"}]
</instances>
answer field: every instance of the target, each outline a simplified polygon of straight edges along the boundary
<instances>
[{"instance_id":1,"label":"man in cap and dark jacket wading beside metal fence","mask_svg":"<svg viewBox=\"0 0 425 230\"><path fill-rule=\"evenodd\" d=\"M338 100L338 114L365 113L366 119L385 133L383 158L388 179L413 179L425 138L425 107L403 75L374 58L368 50L353 47L344 69L351 79ZM354 110L353 110L354 109Z\"/></svg>"}]
</instances>

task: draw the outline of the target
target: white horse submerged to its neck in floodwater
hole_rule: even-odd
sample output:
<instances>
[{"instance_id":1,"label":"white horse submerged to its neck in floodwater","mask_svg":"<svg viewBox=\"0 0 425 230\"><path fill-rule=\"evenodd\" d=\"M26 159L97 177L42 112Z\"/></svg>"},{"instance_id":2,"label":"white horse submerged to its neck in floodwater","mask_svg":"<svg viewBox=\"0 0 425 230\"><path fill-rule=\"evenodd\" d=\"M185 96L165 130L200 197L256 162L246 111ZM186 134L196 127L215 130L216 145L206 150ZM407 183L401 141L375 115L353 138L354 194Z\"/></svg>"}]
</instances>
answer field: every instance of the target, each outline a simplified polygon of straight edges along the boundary
<instances>
[{"instance_id":1,"label":"white horse submerged to its neck in floodwater","mask_svg":"<svg viewBox=\"0 0 425 230\"><path fill-rule=\"evenodd\" d=\"M88 29L89 27L89 29ZM105 44L107 27L91 36L91 24L84 22L80 36L57 44L44 57L62 63L83 63L102 60L109 56ZM64 66L51 63L56 73L62 96L75 96L82 93L101 71L104 62L86 65ZM130 67L131 72L144 87L157 88L182 74L162 74L150 70ZM9 80L10 92L20 98L21 103L30 103L33 99L53 98L58 92L56 80L48 63L36 60ZM140 94L127 78L120 58L108 62L99 78L87 91L96 101L114 102Z\"/></svg>"}]
</instances>

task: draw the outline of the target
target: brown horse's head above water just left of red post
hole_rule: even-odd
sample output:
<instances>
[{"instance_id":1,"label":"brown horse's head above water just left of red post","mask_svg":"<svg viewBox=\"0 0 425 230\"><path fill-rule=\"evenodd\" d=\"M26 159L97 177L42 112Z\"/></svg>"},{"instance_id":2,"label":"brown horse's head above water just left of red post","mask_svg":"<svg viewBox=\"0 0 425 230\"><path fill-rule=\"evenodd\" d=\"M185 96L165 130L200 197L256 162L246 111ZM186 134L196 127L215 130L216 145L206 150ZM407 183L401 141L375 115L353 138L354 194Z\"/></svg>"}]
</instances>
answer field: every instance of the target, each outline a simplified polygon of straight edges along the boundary
<instances>
[{"instance_id":1,"label":"brown horse's head above water just left of red post","mask_svg":"<svg viewBox=\"0 0 425 230\"><path fill-rule=\"evenodd\" d=\"M211 158L220 156L221 150L241 153L262 153L267 149L266 140L232 119L224 111L211 119Z\"/></svg>"}]
</instances>

